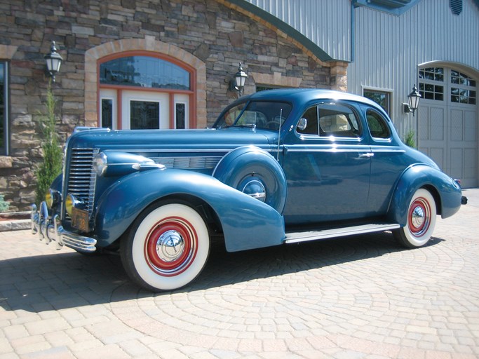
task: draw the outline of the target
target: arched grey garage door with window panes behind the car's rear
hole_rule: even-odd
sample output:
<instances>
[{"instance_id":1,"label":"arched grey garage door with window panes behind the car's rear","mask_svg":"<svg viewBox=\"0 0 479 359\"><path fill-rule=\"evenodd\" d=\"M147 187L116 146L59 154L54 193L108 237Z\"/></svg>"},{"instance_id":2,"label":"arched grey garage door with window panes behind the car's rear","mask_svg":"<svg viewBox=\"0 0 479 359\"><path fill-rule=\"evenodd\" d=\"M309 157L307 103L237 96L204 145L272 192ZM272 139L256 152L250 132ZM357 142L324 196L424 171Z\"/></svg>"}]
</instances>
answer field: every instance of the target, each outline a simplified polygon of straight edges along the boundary
<instances>
[{"instance_id":1,"label":"arched grey garage door with window panes behind the car's rear","mask_svg":"<svg viewBox=\"0 0 479 359\"><path fill-rule=\"evenodd\" d=\"M447 67L419 70L419 149L462 187L478 187L476 81Z\"/></svg>"}]
</instances>

